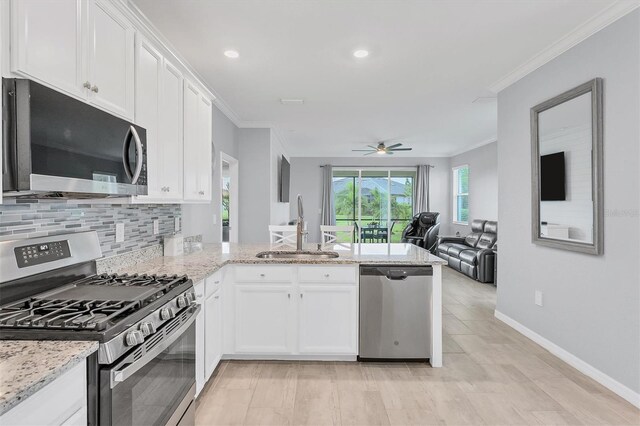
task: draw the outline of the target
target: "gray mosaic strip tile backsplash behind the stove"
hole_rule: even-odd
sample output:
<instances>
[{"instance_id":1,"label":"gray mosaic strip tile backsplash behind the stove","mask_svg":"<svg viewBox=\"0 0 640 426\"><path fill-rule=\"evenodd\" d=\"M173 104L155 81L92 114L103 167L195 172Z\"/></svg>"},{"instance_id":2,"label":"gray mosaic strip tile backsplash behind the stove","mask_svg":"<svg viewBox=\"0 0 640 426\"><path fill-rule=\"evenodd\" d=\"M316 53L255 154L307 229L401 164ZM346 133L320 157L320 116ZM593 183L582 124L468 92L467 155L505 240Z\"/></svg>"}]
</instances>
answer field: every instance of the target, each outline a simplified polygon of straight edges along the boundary
<instances>
[{"instance_id":1,"label":"gray mosaic strip tile backsplash behind the stove","mask_svg":"<svg viewBox=\"0 0 640 426\"><path fill-rule=\"evenodd\" d=\"M181 218L178 204L109 204L100 200L7 199L0 204L0 241L95 230L104 256L162 243ZM153 234L153 221L159 233ZM124 223L125 238L116 243L116 223Z\"/></svg>"}]
</instances>

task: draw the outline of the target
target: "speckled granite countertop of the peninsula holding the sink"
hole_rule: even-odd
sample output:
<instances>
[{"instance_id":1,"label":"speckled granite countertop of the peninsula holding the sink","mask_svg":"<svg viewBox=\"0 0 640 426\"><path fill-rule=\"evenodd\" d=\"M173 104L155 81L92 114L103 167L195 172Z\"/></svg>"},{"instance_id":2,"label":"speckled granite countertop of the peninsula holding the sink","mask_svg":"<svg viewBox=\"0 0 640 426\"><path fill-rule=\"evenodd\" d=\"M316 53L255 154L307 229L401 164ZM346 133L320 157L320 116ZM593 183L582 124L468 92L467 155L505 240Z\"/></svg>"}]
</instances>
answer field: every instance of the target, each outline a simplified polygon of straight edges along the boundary
<instances>
[{"instance_id":1,"label":"speckled granite countertop of the peninsula holding the sink","mask_svg":"<svg viewBox=\"0 0 640 426\"><path fill-rule=\"evenodd\" d=\"M308 244L305 250L317 250ZM333 259L259 259L256 254L272 250L269 244L222 243L205 244L202 251L176 257L155 257L126 267L103 265L108 272L188 275L194 282L211 275L227 264L398 264L437 265L446 261L413 244L334 245L324 251L340 254ZM281 250L281 249L279 249ZM104 261L103 261L104 262Z\"/></svg>"}]
</instances>

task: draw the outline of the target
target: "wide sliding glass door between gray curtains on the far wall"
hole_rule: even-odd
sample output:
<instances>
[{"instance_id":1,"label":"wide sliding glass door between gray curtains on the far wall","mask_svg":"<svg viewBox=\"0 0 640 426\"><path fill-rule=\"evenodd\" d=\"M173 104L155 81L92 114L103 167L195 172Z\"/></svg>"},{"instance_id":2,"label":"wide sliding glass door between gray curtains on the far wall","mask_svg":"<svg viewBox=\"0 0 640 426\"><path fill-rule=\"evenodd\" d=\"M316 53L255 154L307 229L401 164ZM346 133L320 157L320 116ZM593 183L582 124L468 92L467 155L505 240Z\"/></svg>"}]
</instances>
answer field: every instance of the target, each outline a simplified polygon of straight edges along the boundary
<instances>
[{"instance_id":1,"label":"wide sliding glass door between gray curtains on the far wall","mask_svg":"<svg viewBox=\"0 0 640 426\"><path fill-rule=\"evenodd\" d=\"M356 241L400 242L413 216L414 180L413 170L334 169L336 225L359 227ZM340 242L349 240L338 235Z\"/></svg>"}]
</instances>

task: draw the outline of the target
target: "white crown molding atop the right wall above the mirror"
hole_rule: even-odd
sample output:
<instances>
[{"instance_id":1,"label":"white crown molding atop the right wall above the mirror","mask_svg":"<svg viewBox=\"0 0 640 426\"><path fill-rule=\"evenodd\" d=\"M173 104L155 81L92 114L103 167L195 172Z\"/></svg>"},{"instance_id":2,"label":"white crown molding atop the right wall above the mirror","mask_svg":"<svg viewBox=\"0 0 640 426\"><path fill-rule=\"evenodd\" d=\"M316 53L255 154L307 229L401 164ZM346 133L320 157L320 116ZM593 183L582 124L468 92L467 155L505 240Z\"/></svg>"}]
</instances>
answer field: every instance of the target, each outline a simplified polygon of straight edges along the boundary
<instances>
[{"instance_id":1,"label":"white crown molding atop the right wall above the mirror","mask_svg":"<svg viewBox=\"0 0 640 426\"><path fill-rule=\"evenodd\" d=\"M569 34L557 40L551 46L534 55L531 59L518 66L509 74L493 83L489 86L489 89L494 93L498 93L501 90L506 89L529 73L552 61L567 50L571 49L573 46L589 38L623 16L631 13L638 7L640 7L640 0L616 1L588 21L574 28Z\"/></svg>"}]
</instances>

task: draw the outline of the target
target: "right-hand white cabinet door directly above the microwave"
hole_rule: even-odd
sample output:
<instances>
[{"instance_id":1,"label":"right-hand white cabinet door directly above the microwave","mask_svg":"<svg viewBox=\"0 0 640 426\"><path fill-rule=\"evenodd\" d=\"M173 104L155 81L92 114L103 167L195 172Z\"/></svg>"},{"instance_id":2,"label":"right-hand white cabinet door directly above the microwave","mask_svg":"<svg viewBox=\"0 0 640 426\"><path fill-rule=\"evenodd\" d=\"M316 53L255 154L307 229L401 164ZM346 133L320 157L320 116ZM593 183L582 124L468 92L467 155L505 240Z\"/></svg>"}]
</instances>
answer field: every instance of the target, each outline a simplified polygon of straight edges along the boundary
<instances>
[{"instance_id":1,"label":"right-hand white cabinet door directly above the microwave","mask_svg":"<svg viewBox=\"0 0 640 426\"><path fill-rule=\"evenodd\" d=\"M133 119L133 25L104 0L88 2L89 100Z\"/></svg>"}]
</instances>

